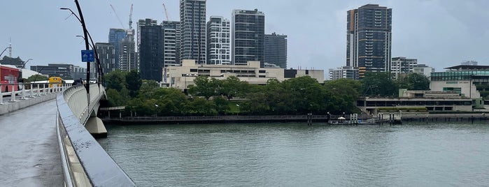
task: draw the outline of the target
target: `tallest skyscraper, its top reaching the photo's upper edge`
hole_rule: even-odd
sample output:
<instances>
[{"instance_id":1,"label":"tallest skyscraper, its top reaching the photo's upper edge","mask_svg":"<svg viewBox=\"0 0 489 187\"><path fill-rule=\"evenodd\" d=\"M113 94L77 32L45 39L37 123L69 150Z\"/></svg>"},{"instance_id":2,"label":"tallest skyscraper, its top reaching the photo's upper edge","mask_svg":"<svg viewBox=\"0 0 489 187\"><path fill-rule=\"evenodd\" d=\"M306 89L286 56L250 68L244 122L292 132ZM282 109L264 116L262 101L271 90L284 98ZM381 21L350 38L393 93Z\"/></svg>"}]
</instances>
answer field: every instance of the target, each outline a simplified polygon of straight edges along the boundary
<instances>
[{"instance_id":1,"label":"tallest skyscraper, its top reaching the photo's upper edge","mask_svg":"<svg viewBox=\"0 0 489 187\"><path fill-rule=\"evenodd\" d=\"M206 0L180 0L180 61L206 63Z\"/></svg>"}]
</instances>

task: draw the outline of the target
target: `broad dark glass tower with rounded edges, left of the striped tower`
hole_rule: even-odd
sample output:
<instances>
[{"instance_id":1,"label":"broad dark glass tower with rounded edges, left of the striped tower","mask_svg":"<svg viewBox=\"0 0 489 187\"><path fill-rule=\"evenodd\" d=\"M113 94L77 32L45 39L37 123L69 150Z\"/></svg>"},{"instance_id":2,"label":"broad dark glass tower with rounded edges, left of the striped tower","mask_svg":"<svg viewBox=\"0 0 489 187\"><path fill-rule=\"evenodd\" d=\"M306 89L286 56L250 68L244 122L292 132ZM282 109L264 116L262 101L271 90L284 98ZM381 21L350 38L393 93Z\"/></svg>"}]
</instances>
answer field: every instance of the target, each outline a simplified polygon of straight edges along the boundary
<instances>
[{"instance_id":1,"label":"broad dark glass tower with rounded edges, left of the striped tower","mask_svg":"<svg viewBox=\"0 0 489 187\"><path fill-rule=\"evenodd\" d=\"M139 72L143 80L162 81L164 66L164 33L156 20L138 22Z\"/></svg>"}]
</instances>

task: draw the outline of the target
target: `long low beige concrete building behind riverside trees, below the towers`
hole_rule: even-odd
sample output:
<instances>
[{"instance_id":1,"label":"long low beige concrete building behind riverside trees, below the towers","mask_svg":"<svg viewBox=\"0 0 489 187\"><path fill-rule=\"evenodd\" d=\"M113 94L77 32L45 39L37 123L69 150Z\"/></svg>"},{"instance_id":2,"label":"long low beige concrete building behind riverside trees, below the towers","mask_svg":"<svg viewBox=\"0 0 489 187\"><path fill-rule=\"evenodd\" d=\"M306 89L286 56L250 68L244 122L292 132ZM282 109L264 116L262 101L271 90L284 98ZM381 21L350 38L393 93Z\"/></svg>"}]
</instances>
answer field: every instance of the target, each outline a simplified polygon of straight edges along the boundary
<instances>
[{"instance_id":1,"label":"long low beige concrete building behind riverside trees, below the towers","mask_svg":"<svg viewBox=\"0 0 489 187\"><path fill-rule=\"evenodd\" d=\"M196 64L194 60L183 60L181 66L164 67L163 84L166 87L186 89L194 84L197 76L225 80L229 76L238 77L250 84L267 84L270 79L279 81L290 78L310 76L324 82L324 70L294 70L283 68L260 68L260 61L248 61L247 65Z\"/></svg>"}]
</instances>

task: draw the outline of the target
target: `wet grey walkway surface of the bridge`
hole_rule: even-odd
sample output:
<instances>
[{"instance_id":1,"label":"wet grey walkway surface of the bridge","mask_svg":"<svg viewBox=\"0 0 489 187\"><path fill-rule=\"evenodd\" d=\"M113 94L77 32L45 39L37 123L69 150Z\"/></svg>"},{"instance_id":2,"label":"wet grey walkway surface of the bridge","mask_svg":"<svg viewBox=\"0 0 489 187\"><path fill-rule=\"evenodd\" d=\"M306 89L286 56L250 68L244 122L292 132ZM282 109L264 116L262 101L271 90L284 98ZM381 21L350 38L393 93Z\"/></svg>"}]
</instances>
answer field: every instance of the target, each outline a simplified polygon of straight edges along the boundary
<instances>
[{"instance_id":1,"label":"wet grey walkway surface of the bridge","mask_svg":"<svg viewBox=\"0 0 489 187\"><path fill-rule=\"evenodd\" d=\"M0 186L63 186L56 100L0 115Z\"/></svg>"}]
</instances>

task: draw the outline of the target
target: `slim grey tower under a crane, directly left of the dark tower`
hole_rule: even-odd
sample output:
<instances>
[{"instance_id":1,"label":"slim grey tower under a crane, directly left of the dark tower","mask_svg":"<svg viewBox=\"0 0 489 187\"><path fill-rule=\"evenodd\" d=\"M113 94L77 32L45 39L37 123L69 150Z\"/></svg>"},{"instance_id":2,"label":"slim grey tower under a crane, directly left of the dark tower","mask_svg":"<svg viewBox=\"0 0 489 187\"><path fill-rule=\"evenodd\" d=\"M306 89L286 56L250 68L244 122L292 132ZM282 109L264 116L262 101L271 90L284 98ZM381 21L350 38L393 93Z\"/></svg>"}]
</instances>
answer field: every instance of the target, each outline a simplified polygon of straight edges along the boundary
<instances>
[{"instance_id":1,"label":"slim grey tower under a crane, directly left of the dark tower","mask_svg":"<svg viewBox=\"0 0 489 187\"><path fill-rule=\"evenodd\" d=\"M122 39L119 46L119 69L124 71L138 70L136 43L134 43L134 29L127 30L127 36Z\"/></svg>"}]
</instances>

